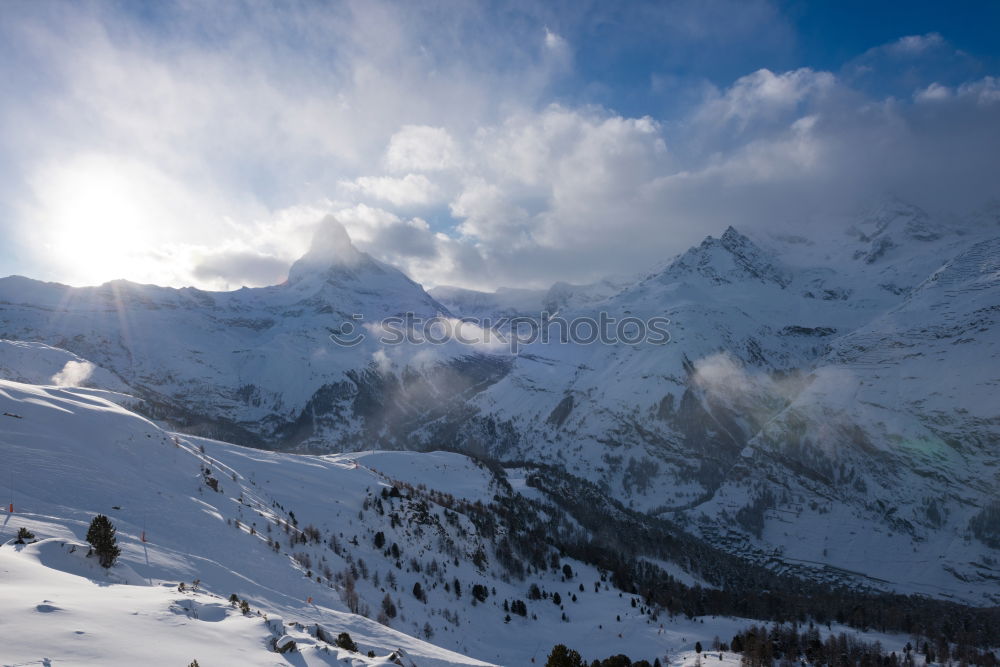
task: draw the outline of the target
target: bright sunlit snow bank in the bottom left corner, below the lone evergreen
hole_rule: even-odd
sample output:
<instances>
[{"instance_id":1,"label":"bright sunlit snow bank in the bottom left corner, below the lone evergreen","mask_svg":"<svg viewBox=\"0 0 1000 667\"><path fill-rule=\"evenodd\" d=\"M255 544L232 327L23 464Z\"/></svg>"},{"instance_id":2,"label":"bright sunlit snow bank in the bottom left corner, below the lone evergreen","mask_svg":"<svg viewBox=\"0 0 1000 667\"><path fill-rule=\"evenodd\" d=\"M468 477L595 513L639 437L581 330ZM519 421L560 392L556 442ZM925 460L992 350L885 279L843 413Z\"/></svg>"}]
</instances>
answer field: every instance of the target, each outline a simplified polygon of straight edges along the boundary
<instances>
[{"instance_id":1,"label":"bright sunlit snow bank in the bottom left corner, below the lone evergreen","mask_svg":"<svg viewBox=\"0 0 1000 667\"><path fill-rule=\"evenodd\" d=\"M0 546L5 664L274 665L280 658L268 650L272 640L294 642L300 665L398 664L388 651L369 659L316 639L302 625L245 616L210 593L181 593L173 583L108 585L85 554L66 538ZM431 655L418 660L482 664L449 660L445 651Z\"/></svg>"}]
</instances>

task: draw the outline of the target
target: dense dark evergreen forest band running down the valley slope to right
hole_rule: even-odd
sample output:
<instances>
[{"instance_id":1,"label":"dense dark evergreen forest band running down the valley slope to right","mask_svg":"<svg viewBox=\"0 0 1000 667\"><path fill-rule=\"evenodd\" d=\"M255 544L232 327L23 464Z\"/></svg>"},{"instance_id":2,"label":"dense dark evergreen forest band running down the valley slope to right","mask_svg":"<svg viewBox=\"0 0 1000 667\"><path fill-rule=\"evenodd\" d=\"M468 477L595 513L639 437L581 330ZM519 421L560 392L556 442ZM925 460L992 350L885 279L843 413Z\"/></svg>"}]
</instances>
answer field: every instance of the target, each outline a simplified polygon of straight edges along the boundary
<instances>
[{"instance_id":1,"label":"dense dark evergreen forest band running down the valley slope to right","mask_svg":"<svg viewBox=\"0 0 1000 667\"><path fill-rule=\"evenodd\" d=\"M843 623L862 630L944 637L970 646L1000 644L1000 608L976 608L917 595L885 593L855 584L816 582L771 570L729 554L676 524L628 509L600 487L565 470L524 461L529 486L565 511L522 495L497 494L493 502L451 500L481 539L494 547L495 563L517 579L551 569L552 556L589 563L614 587L638 595L655 618L730 615L779 623ZM411 490L411 495L419 491ZM450 499L449 499L450 500ZM760 503L766 506L770 500ZM711 588L689 586L651 559L682 564ZM558 559L557 559L558 560ZM534 591L529 592L529 599Z\"/></svg>"}]
</instances>

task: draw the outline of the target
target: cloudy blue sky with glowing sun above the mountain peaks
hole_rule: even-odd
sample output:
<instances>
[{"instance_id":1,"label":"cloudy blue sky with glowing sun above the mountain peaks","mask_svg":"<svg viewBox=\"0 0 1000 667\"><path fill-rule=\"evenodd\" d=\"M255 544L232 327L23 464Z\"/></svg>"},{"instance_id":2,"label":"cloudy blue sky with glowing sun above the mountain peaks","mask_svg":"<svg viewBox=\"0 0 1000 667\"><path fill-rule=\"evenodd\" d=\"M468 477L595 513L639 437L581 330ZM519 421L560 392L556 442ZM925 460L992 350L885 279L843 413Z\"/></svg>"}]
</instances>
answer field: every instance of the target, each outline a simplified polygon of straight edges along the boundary
<instances>
[{"instance_id":1,"label":"cloudy blue sky with glowing sun above the mountain peaks","mask_svg":"<svg viewBox=\"0 0 1000 667\"><path fill-rule=\"evenodd\" d=\"M1000 196L993 2L14 3L0 273L280 281L333 214L425 284Z\"/></svg>"}]
</instances>

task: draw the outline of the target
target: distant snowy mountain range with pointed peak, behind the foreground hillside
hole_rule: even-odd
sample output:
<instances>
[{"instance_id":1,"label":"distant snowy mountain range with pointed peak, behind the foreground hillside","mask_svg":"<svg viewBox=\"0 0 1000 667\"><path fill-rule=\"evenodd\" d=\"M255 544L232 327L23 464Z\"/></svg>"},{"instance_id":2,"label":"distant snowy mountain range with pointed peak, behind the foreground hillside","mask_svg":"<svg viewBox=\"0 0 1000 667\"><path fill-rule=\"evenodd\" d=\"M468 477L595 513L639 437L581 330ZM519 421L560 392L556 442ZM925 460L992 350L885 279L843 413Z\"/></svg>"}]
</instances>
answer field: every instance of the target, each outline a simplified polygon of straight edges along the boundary
<instances>
[{"instance_id":1,"label":"distant snowy mountain range with pointed peak, behind the foreground hillside","mask_svg":"<svg viewBox=\"0 0 1000 667\"><path fill-rule=\"evenodd\" d=\"M543 311L665 317L671 339L511 353L376 335L406 313ZM996 605L998 317L992 209L952 224L893 199L801 235L729 227L633 277L496 293L426 291L328 221L271 287L4 278L0 369L45 380L17 369L54 349L41 384L258 449L555 466L776 573ZM345 322L368 335L337 345Z\"/></svg>"}]
</instances>

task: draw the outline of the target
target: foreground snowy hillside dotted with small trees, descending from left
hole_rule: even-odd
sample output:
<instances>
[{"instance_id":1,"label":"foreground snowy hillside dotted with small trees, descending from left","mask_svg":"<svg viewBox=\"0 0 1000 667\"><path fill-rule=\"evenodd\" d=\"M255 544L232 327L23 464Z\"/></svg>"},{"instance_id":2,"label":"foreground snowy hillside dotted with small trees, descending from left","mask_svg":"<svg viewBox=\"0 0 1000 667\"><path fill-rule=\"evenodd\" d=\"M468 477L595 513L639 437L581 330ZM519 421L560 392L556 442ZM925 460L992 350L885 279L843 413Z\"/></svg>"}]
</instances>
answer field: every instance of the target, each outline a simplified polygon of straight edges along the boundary
<instances>
[{"instance_id":1,"label":"foreground snowy hillside dotted with small trees, descending from left","mask_svg":"<svg viewBox=\"0 0 1000 667\"><path fill-rule=\"evenodd\" d=\"M524 665L564 643L679 667L749 624L652 608L543 544L512 576L500 547L516 524L480 508L544 500L516 470L443 452L262 452L164 432L82 388L0 381L0 408L5 663ZM98 513L122 550L107 571L82 539ZM333 645L342 632L358 652Z\"/></svg>"}]
</instances>

